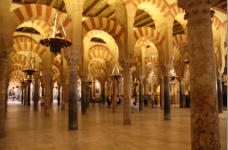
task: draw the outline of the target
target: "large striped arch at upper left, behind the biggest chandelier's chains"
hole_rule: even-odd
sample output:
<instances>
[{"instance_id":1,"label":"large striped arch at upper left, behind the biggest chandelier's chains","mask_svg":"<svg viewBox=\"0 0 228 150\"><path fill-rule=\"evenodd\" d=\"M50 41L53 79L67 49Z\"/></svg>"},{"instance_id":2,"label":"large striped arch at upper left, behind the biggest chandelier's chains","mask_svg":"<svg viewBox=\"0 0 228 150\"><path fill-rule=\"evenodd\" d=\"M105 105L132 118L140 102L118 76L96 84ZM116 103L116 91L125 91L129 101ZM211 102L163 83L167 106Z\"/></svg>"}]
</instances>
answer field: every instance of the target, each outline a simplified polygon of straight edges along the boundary
<instances>
[{"instance_id":1,"label":"large striped arch at upper left, behind the biggest chandelier's chains","mask_svg":"<svg viewBox=\"0 0 228 150\"><path fill-rule=\"evenodd\" d=\"M26 4L26 5L23 5L22 7L19 7L13 10L13 14L15 18L18 20L19 24L31 19L45 20L49 24L53 24L55 14L56 14L56 9L46 5ZM70 23L70 20L68 19L67 14L62 12L58 12L58 14L62 20L63 26L66 28Z\"/></svg>"}]
</instances>

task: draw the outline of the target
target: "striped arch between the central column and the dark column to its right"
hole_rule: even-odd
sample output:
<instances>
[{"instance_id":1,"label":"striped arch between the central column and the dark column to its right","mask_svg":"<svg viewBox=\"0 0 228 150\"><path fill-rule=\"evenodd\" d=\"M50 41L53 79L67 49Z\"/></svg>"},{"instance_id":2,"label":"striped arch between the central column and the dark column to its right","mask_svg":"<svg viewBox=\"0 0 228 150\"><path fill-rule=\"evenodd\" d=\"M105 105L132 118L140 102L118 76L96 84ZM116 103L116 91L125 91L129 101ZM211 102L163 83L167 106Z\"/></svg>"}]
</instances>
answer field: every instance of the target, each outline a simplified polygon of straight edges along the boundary
<instances>
[{"instance_id":1,"label":"striped arch between the central column and the dark column to its right","mask_svg":"<svg viewBox=\"0 0 228 150\"><path fill-rule=\"evenodd\" d=\"M136 30L134 30L134 37L136 41L142 38L149 39L156 46L162 45L164 41L164 38L161 36L161 34L158 31L149 27L136 28Z\"/></svg>"}]
</instances>

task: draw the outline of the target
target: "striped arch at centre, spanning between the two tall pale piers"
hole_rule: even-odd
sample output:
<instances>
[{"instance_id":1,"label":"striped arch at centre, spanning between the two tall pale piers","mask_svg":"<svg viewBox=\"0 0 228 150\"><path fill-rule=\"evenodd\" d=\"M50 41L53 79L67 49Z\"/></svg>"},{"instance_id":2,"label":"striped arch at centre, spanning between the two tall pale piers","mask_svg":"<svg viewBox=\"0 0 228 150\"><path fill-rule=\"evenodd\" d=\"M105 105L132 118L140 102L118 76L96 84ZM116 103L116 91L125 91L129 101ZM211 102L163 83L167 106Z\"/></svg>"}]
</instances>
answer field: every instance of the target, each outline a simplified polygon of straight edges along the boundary
<instances>
[{"instance_id":1,"label":"striped arch at centre, spanning between the two tall pale piers","mask_svg":"<svg viewBox=\"0 0 228 150\"><path fill-rule=\"evenodd\" d=\"M114 38L124 42L124 29L115 21L104 17L89 17L82 22L83 37L91 30L103 30L110 33Z\"/></svg>"}]
</instances>

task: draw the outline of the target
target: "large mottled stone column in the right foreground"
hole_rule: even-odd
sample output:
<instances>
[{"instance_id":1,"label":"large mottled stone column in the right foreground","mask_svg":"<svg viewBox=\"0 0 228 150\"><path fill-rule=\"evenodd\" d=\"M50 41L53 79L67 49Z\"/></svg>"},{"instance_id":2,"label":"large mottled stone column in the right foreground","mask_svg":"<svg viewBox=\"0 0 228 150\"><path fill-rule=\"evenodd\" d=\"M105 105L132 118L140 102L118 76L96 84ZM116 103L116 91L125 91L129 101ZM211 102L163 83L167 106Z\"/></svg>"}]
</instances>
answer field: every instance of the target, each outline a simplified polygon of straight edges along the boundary
<instances>
[{"instance_id":1,"label":"large mottled stone column in the right foreground","mask_svg":"<svg viewBox=\"0 0 228 150\"><path fill-rule=\"evenodd\" d=\"M192 150L220 150L210 0L178 0L188 20Z\"/></svg>"}]
</instances>

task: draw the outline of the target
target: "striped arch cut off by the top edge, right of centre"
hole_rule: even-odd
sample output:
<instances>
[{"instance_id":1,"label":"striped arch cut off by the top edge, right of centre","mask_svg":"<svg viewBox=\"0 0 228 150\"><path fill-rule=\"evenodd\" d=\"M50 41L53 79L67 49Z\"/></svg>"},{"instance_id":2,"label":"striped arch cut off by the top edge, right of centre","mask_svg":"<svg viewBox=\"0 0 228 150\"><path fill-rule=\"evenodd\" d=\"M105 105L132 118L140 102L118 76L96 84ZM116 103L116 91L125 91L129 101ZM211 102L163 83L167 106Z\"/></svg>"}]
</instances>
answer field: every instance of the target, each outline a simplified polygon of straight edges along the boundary
<instances>
[{"instance_id":1,"label":"striped arch cut off by the top edge, right of centre","mask_svg":"<svg viewBox=\"0 0 228 150\"><path fill-rule=\"evenodd\" d=\"M164 17L172 16L173 14L170 12L170 5L167 3L166 0L123 0L124 5L127 6L129 4L132 4L135 8L138 8L138 6L141 3L148 2L152 5L156 5L157 8L160 8L160 12L162 12Z\"/></svg>"}]
</instances>

